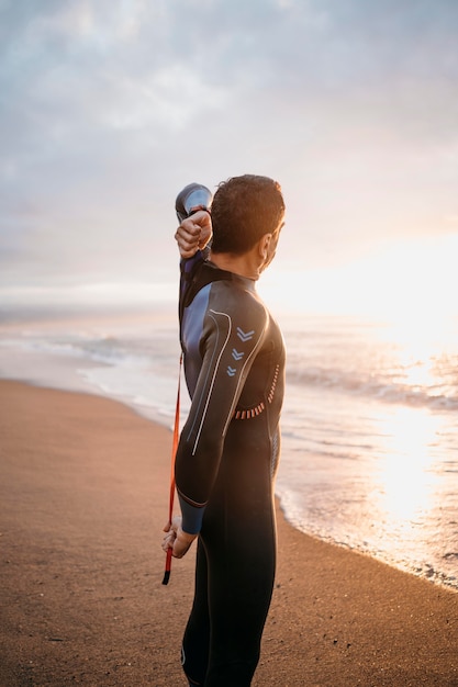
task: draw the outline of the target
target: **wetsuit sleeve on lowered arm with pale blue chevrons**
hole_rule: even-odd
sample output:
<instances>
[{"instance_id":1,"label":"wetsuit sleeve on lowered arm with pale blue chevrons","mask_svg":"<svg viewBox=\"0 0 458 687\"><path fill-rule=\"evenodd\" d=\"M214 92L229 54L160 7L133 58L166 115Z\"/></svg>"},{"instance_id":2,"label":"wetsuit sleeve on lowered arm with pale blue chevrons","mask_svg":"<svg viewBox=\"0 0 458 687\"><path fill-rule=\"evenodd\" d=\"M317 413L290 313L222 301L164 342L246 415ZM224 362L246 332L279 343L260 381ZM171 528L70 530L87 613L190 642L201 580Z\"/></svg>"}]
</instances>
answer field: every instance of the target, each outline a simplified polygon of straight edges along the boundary
<instances>
[{"instance_id":1,"label":"wetsuit sleeve on lowered arm with pale blue chevrons","mask_svg":"<svg viewBox=\"0 0 458 687\"><path fill-rule=\"evenodd\" d=\"M189 533L200 531L224 437L267 326L266 309L253 294L242 291L234 299L223 282L208 291L199 338L202 363L176 458L182 528ZM203 292L199 297L204 297Z\"/></svg>"}]
</instances>

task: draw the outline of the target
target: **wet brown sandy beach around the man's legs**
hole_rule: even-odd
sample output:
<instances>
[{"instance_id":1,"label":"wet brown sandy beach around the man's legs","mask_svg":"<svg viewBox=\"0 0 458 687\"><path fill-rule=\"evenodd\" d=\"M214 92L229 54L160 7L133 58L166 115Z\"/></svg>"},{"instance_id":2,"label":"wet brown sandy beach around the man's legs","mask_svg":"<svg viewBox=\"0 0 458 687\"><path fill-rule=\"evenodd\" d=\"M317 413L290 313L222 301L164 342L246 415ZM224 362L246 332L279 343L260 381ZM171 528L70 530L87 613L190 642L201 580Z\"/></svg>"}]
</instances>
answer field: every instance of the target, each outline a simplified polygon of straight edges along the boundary
<instances>
[{"instance_id":1,"label":"wet brown sandy beach around the man's legs","mask_svg":"<svg viewBox=\"0 0 458 687\"><path fill-rule=\"evenodd\" d=\"M171 435L0 382L0 686L179 687L193 556L161 585ZM254 687L458 687L458 594L294 530ZM242 620L243 621L243 620Z\"/></svg>"}]
</instances>

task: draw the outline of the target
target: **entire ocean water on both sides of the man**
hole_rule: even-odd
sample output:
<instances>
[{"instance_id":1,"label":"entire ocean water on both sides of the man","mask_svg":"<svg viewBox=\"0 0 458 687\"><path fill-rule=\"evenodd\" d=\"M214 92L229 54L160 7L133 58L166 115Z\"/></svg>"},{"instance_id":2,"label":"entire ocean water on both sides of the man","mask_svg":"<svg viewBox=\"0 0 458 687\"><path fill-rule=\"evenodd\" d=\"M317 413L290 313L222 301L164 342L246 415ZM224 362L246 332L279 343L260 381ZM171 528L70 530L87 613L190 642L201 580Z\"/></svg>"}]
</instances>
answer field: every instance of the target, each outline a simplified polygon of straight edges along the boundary
<instances>
[{"instance_id":1,"label":"entire ocean water on both sides of the man","mask_svg":"<svg viewBox=\"0 0 458 687\"><path fill-rule=\"evenodd\" d=\"M458 589L458 318L278 318L287 518ZM0 378L107 395L169 427L178 361L174 308L0 326Z\"/></svg>"}]
</instances>

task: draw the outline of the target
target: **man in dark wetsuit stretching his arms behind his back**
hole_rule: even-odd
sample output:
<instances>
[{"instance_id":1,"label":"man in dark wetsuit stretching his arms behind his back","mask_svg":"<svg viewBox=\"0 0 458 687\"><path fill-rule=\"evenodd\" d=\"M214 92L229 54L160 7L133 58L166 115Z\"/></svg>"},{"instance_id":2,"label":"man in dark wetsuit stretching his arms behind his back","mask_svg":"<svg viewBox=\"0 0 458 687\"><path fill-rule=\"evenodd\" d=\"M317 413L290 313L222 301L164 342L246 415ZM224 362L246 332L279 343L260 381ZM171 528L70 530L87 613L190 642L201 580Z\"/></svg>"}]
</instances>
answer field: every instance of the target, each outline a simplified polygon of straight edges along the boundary
<instances>
[{"instance_id":1,"label":"man in dark wetsuit stretching his arms behind his back","mask_svg":"<svg viewBox=\"0 0 458 687\"><path fill-rule=\"evenodd\" d=\"M181 517L163 548L181 558L199 536L182 642L189 685L245 687L259 661L276 567L273 480L284 386L280 329L256 292L283 225L280 187L235 177L176 238L180 337L191 408L180 433ZM210 250L200 250L213 228Z\"/></svg>"}]
</instances>

